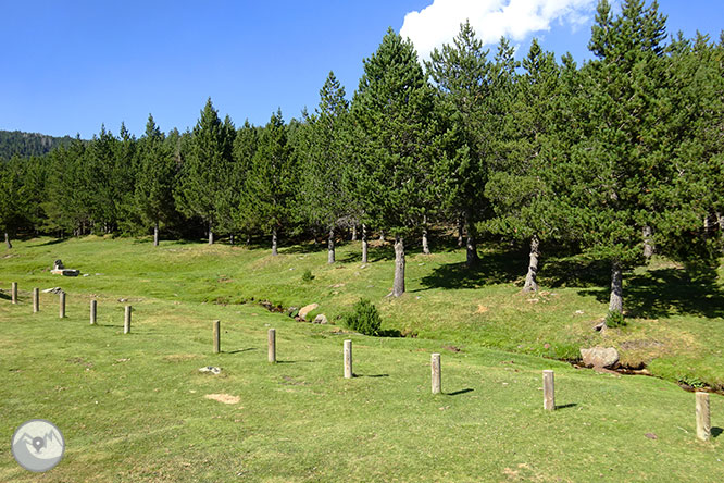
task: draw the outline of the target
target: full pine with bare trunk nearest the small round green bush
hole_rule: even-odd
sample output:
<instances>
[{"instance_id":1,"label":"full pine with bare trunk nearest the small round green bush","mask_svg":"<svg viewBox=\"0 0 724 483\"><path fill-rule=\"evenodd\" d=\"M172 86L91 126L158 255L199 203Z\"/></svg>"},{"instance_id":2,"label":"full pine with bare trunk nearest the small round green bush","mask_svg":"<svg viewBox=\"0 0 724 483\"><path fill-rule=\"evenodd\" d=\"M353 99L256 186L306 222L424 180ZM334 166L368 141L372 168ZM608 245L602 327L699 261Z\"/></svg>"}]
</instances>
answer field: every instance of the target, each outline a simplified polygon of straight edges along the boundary
<instances>
[{"instance_id":1,"label":"full pine with bare trunk nearest the small round green bush","mask_svg":"<svg viewBox=\"0 0 724 483\"><path fill-rule=\"evenodd\" d=\"M404 293L404 236L434 203L433 103L412 44L388 29L364 61L351 111L361 136L357 156L365 219L395 236L395 297Z\"/></svg>"}]
</instances>

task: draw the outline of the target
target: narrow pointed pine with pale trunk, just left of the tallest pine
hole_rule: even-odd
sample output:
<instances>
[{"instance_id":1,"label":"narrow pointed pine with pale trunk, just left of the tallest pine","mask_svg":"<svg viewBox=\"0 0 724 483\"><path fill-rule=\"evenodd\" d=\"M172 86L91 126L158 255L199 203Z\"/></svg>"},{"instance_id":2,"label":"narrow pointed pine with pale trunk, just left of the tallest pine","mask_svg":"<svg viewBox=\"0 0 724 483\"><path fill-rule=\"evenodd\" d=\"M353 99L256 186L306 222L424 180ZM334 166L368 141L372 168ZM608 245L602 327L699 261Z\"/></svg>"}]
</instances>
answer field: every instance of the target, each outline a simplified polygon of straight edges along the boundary
<instances>
[{"instance_id":1,"label":"narrow pointed pine with pale trunk, just left of the tallest pine","mask_svg":"<svg viewBox=\"0 0 724 483\"><path fill-rule=\"evenodd\" d=\"M496 218L488 223L494 232L530 243L524 292L538 289L540 242L560 237L556 223L557 179L547 168L559 154L559 132L566 129L564 102L559 86L559 67L553 54L544 52L536 39L523 60L524 75L515 83L510 122L501 133L498 158L486 195Z\"/></svg>"}]
</instances>

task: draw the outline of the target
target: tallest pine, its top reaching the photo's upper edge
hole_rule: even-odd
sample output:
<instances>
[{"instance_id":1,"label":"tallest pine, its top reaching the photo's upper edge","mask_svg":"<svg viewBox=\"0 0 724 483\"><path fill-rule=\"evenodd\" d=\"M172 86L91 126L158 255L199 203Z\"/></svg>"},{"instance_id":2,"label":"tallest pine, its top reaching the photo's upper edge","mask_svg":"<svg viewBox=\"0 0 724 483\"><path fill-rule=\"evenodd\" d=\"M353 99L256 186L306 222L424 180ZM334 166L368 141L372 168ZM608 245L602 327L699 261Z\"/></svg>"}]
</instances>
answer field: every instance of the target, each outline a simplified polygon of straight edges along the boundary
<instances>
[{"instance_id":1,"label":"tallest pine, its top reaching the photo's upper edge","mask_svg":"<svg viewBox=\"0 0 724 483\"><path fill-rule=\"evenodd\" d=\"M584 138L559 165L567 179L569 223L584 250L611 264L609 311L623 312L623 271L642 261L642 231L669 220L672 182L662 55L665 17L653 2L625 0L615 18L597 8L578 109ZM584 112L585 111L585 112ZM612 315L612 317L613 317Z\"/></svg>"}]
</instances>

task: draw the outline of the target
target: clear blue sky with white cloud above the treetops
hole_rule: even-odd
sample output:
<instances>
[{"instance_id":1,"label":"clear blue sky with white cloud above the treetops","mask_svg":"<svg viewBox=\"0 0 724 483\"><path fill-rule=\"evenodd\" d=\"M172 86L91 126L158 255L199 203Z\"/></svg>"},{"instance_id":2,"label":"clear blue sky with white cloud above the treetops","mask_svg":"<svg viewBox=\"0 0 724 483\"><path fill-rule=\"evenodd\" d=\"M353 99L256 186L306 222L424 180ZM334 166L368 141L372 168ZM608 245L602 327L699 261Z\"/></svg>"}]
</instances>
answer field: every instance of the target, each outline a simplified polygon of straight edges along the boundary
<instances>
[{"instance_id":1,"label":"clear blue sky with white cloud above the treetops","mask_svg":"<svg viewBox=\"0 0 724 483\"><path fill-rule=\"evenodd\" d=\"M557 57L571 51L582 62L595 3L0 0L0 129L90 138L101 124L117 134L123 121L140 136L152 113L161 129L184 131L208 97L237 126L265 124L277 107L285 120L299 117L317 104L330 70L351 98L362 60L388 26L425 55L454 35L459 16L470 16L482 38L513 36L519 57L536 36ZM659 3L669 33L719 39L724 28L721 0Z\"/></svg>"}]
</instances>

